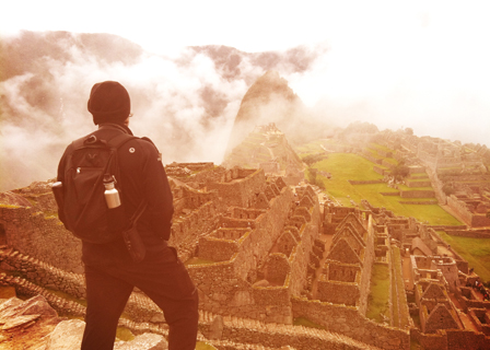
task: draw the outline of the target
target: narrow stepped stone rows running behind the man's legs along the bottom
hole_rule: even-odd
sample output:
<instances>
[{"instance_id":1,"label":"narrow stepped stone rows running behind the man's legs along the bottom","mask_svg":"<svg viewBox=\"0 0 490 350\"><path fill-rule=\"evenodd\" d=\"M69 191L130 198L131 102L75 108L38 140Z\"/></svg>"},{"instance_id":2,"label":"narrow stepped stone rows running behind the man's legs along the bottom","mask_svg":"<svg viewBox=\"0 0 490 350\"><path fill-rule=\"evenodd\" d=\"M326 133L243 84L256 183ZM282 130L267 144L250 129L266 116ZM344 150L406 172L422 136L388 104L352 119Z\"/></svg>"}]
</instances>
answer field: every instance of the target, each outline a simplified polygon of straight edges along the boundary
<instances>
[{"instance_id":1,"label":"narrow stepped stone rows running behind the man's legs along the bottom","mask_svg":"<svg viewBox=\"0 0 490 350\"><path fill-rule=\"evenodd\" d=\"M77 283L82 284L84 289L82 275L65 272L13 249L0 250L0 261L7 262L12 267L21 267L18 271L21 271L23 275L32 273L34 267L37 267L39 270L50 271L51 275L58 278L57 281L62 281L67 278L70 282L77 281ZM26 296L43 295L51 307L60 314L69 314L75 317L85 315L85 306L81 303L58 296L22 277L9 276L2 272L0 273L0 285L14 287L19 294ZM164 337L168 336L168 325L164 323L160 308L147 295L133 292L125 313L131 319L120 318L119 326L130 329L135 335L154 332ZM207 311L199 311L200 332L198 340L208 341L220 350L273 350L287 346L296 350L378 349L325 329L262 323L235 316L222 316L223 331L221 338L208 340L205 336L209 336L210 326L217 317L221 316Z\"/></svg>"}]
</instances>

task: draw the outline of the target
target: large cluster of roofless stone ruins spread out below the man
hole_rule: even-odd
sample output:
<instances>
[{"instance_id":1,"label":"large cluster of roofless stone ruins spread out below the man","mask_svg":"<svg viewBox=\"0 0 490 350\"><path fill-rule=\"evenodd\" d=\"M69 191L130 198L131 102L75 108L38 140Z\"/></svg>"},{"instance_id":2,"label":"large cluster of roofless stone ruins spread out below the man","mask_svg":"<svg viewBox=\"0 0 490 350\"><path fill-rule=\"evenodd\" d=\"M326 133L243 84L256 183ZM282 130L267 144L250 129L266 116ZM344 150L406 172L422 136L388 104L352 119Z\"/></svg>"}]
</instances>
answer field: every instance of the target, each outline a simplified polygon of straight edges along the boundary
<instances>
[{"instance_id":1,"label":"large cluster of roofless stone ruins spread out below the man","mask_svg":"<svg viewBox=\"0 0 490 350\"><path fill-rule=\"evenodd\" d=\"M260 168L173 163L166 171L175 207L170 244L199 291L199 337L218 349L409 349L411 340L428 349L490 348L490 302L470 287L479 278L432 228L369 202L366 210L320 202L318 189ZM81 304L49 292L84 299L80 241L58 221L50 183L2 196L8 273L0 284L83 316ZM366 317L377 265L392 285L383 323ZM121 326L167 336L159 308L139 291L125 313L131 320ZM296 318L323 329L293 326Z\"/></svg>"}]
</instances>

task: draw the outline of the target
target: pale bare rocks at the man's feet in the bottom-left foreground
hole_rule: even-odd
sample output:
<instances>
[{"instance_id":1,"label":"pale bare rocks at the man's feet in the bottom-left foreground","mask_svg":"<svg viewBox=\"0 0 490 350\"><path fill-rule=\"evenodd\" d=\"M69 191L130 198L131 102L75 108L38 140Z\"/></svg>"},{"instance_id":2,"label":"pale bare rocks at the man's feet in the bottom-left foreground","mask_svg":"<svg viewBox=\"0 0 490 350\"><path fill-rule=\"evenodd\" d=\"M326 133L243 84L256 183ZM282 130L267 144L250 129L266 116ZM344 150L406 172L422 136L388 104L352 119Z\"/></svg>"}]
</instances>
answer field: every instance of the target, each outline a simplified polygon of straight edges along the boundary
<instances>
[{"instance_id":1,"label":"pale bare rocks at the man's feet in the bottom-left foreground","mask_svg":"<svg viewBox=\"0 0 490 350\"><path fill-rule=\"evenodd\" d=\"M0 300L0 348L3 350L80 349L85 323L58 317L42 295L27 301ZM164 337L143 334L132 341L116 341L115 350L165 350Z\"/></svg>"}]
</instances>

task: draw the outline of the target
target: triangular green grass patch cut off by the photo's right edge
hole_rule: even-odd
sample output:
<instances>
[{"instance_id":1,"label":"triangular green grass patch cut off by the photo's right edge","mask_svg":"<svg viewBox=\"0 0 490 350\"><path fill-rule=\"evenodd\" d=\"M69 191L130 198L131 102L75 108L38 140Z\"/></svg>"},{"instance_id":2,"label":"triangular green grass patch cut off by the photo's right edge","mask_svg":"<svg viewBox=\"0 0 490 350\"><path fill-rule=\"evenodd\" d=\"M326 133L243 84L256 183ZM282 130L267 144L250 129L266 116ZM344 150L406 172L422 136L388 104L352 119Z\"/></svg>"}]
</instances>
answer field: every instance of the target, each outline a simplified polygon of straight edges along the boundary
<instances>
[{"instance_id":1,"label":"triangular green grass patch cut off by the photo's right edge","mask_svg":"<svg viewBox=\"0 0 490 350\"><path fill-rule=\"evenodd\" d=\"M439 234L468 261L469 267L475 269L475 273L483 281L490 281L490 240L450 236L444 232L439 232Z\"/></svg>"}]
</instances>

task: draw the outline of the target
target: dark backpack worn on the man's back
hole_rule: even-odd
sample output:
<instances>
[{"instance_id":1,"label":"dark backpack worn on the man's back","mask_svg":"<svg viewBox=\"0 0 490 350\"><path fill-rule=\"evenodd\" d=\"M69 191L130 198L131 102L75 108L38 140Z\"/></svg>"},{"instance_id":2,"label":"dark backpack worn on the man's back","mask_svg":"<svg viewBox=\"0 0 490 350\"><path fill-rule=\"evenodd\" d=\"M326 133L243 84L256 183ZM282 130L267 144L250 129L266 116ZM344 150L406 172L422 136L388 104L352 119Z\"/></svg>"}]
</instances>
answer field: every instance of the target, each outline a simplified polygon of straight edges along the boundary
<instances>
[{"instance_id":1,"label":"dark backpack worn on the man's back","mask_svg":"<svg viewBox=\"0 0 490 350\"><path fill-rule=\"evenodd\" d=\"M126 142L139 139L128 133L103 140L90 135L72 142L62 184L60 219L75 236L89 243L104 244L120 237L129 226L124 202L108 209L104 177L113 177L121 196L117 150ZM56 190L54 187L55 196Z\"/></svg>"}]
</instances>

